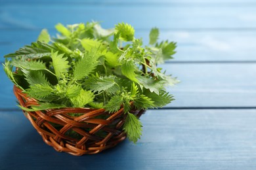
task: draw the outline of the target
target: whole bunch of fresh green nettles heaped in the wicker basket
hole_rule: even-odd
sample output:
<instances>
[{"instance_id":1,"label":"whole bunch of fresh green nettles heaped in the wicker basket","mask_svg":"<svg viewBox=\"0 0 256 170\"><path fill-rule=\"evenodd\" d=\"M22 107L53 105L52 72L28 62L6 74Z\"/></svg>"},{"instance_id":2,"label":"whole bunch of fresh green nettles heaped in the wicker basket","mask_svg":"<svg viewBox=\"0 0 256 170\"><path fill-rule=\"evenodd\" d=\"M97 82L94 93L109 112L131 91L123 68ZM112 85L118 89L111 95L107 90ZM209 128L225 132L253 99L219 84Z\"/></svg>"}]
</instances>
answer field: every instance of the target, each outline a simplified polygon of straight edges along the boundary
<instances>
[{"instance_id":1,"label":"whole bunch of fresh green nettles heaped in the wicker basket","mask_svg":"<svg viewBox=\"0 0 256 170\"><path fill-rule=\"evenodd\" d=\"M177 82L157 67L175 54L175 42L157 42L159 31L150 31L149 45L134 37L129 24L103 29L97 22L65 27L57 24L56 38L43 29L37 42L5 58L4 69L12 82L39 106L27 111L64 107L104 108L127 114L123 126L131 141L141 135L136 109L163 107L173 100L165 88ZM123 46L122 46L123 42ZM13 67L16 67L13 72ZM21 107L21 106L20 106ZM80 116L80 115L72 115Z\"/></svg>"}]
</instances>

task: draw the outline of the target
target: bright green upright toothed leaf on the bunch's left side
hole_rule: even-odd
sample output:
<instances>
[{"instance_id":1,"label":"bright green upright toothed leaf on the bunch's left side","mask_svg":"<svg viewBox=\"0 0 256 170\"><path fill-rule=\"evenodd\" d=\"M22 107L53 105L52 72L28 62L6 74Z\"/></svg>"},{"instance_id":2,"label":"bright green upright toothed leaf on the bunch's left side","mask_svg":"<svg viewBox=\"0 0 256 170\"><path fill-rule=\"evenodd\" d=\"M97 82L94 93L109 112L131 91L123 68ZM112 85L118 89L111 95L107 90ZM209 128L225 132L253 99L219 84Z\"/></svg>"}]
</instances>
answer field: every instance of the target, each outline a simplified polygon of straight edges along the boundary
<instances>
[{"instance_id":1,"label":"bright green upright toothed leaf on the bunch's left side","mask_svg":"<svg viewBox=\"0 0 256 170\"><path fill-rule=\"evenodd\" d=\"M64 54L58 55L58 52L52 53L53 68L57 77L60 77L62 73L68 72L68 58L63 58Z\"/></svg>"}]
</instances>

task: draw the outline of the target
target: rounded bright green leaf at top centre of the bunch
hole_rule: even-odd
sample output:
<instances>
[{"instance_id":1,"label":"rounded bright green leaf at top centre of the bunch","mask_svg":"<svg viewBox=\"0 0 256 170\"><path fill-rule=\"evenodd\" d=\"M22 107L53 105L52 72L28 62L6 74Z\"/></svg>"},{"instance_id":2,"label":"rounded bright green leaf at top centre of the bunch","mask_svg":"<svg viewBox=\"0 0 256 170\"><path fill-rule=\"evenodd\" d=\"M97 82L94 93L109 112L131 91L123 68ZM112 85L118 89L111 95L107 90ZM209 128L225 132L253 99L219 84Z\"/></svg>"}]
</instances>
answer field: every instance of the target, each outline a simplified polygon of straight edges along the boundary
<instances>
[{"instance_id":1,"label":"rounded bright green leaf at top centre of the bunch","mask_svg":"<svg viewBox=\"0 0 256 170\"><path fill-rule=\"evenodd\" d=\"M117 24L115 29L123 41L133 41L135 30L131 25L122 22Z\"/></svg>"}]
</instances>

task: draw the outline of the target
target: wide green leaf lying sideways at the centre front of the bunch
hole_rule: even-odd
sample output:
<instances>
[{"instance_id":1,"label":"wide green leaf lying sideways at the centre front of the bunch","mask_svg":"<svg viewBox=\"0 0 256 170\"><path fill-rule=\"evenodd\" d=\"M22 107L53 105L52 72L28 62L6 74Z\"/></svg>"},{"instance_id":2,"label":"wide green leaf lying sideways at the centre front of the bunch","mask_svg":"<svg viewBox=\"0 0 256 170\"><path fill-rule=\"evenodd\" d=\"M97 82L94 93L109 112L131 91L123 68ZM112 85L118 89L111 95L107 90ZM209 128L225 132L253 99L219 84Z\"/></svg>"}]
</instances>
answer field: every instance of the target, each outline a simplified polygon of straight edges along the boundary
<instances>
[{"instance_id":1,"label":"wide green leaf lying sideways at the centre front of the bunch","mask_svg":"<svg viewBox=\"0 0 256 170\"><path fill-rule=\"evenodd\" d=\"M93 92L107 91L114 93L117 90L120 90L115 82L116 79L117 77L114 75L104 77L90 76L87 80L85 80L83 85L86 89L92 90Z\"/></svg>"}]
</instances>

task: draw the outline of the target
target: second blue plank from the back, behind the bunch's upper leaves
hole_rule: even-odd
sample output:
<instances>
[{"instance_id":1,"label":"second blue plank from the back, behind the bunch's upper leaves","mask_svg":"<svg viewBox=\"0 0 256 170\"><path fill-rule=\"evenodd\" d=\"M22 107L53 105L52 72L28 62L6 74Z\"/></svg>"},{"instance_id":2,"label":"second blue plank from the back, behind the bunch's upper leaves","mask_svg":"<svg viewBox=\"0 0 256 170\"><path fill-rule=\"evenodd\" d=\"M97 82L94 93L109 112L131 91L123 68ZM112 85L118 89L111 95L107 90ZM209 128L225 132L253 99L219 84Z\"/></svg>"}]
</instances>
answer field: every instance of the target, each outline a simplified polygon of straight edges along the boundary
<instances>
[{"instance_id":1,"label":"second blue plank from the back, behind the bunch's upper leaves","mask_svg":"<svg viewBox=\"0 0 256 170\"><path fill-rule=\"evenodd\" d=\"M54 29L49 30L56 35ZM142 37L148 44L148 33L136 31L136 37ZM36 41L40 30L3 30L0 32L0 61L5 54L18 50L30 42ZM177 54L173 61L256 61L255 31L166 31L160 30L160 41L169 39L177 42Z\"/></svg>"}]
</instances>

